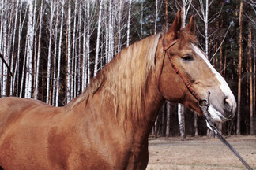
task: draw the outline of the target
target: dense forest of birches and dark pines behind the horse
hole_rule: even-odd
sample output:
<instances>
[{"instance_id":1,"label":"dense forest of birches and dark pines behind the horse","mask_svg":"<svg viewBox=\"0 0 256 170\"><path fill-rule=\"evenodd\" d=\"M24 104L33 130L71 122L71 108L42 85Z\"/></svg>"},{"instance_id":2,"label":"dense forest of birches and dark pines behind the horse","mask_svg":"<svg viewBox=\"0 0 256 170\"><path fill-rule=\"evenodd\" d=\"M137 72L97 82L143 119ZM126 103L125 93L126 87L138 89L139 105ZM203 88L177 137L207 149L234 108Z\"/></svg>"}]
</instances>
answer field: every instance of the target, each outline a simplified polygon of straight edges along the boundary
<instances>
[{"instance_id":1,"label":"dense forest of birches and dark pines behind the horse","mask_svg":"<svg viewBox=\"0 0 256 170\"><path fill-rule=\"evenodd\" d=\"M0 97L66 105L120 50L167 31L179 9L235 94L235 118L219 131L256 134L254 0L0 0ZM165 102L152 135L211 133L204 117Z\"/></svg>"}]
</instances>

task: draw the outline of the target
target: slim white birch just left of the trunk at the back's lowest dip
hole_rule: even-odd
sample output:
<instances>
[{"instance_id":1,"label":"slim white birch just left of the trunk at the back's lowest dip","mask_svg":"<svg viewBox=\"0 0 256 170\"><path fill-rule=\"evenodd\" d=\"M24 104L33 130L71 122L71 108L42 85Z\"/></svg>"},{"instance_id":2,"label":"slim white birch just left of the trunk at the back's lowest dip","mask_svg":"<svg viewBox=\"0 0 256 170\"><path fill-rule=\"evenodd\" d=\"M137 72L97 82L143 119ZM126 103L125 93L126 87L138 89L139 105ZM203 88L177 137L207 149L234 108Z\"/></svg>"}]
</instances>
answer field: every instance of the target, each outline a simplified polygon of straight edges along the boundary
<instances>
[{"instance_id":1,"label":"slim white birch just left of the trunk at the back's lowest dip","mask_svg":"<svg viewBox=\"0 0 256 170\"><path fill-rule=\"evenodd\" d=\"M50 86L51 86L51 39L52 39L52 22L55 15L55 1L51 1L51 13L50 13L50 37L49 37L49 48L48 48L48 59L47 59L47 98L46 103L50 104Z\"/></svg>"}]
</instances>

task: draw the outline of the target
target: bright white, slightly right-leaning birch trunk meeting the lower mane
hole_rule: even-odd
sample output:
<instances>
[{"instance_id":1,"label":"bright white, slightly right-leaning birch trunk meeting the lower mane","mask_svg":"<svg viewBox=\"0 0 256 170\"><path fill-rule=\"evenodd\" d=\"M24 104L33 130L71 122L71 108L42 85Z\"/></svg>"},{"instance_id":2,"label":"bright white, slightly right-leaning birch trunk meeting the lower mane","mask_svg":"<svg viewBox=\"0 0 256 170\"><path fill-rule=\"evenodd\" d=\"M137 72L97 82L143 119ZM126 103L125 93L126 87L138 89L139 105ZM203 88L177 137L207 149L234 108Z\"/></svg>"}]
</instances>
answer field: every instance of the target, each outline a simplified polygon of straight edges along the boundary
<instances>
[{"instance_id":1,"label":"bright white, slightly right-leaning birch trunk meeting the lower mane","mask_svg":"<svg viewBox=\"0 0 256 170\"><path fill-rule=\"evenodd\" d=\"M97 30L97 40L96 40L96 54L95 54L95 63L94 63L93 76L96 76L96 74L98 72L98 62L99 62L99 52L100 52L100 27L101 27L102 2L103 2L103 0L100 0L100 9L99 9L99 17L98 17L98 30Z\"/></svg>"}]
</instances>

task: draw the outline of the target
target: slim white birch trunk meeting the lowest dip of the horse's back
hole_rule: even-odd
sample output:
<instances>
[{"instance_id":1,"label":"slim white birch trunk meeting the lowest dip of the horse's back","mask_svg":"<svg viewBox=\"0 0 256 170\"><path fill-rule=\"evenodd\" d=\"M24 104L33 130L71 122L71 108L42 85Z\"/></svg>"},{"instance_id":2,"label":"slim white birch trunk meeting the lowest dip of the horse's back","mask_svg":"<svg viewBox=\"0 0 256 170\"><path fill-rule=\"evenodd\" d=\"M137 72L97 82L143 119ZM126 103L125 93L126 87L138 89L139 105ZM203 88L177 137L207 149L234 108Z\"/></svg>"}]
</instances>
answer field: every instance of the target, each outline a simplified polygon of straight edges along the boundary
<instances>
[{"instance_id":1,"label":"slim white birch trunk meeting the lowest dip of the horse's back","mask_svg":"<svg viewBox=\"0 0 256 170\"><path fill-rule=\"evenodd\" d=\"M56 79L56 100L55 105L58 107L58 91L59 91L59 80L60 80L60 72L61 72L61 59L62 59L62 30L63 30L63 17L64 17L64 5L65 0L62 0L62 18L61 18L61 26L59 28L59 42L58 42L58 69L57 69L57 79Z\"/></svg>"}]
</instances>

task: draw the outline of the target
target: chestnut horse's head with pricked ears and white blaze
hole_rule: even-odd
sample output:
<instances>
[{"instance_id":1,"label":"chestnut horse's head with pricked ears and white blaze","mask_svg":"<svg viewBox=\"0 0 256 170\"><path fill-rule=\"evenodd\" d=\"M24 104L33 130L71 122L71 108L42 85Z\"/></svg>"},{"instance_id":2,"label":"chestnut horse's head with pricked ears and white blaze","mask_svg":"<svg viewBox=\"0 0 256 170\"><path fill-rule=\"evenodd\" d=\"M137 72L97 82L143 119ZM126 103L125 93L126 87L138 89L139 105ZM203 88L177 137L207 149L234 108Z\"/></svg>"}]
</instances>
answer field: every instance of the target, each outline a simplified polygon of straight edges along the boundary
<instances>
[{"instance_id":1,"label":"chestnut horse's head with pricked ears and white blaze","mask_svg":"<svg viewBox=\"0 0 256 170\"><path fill-rule=\"evenodd\" d=\"M222 122L232 119L236 108L234 94L196 45L194 18L191 17L190 23L185 28L181 29L181 25L182 19L178 12L171 28L163 36L162 46L159 48L171 46L166 53L170 54L179 72L190 82L201 98L207 98L210 91L209 116L214 121ZM175 73L171 67L171 61L168 57L163 59L163 53L158 56L159 68L163 69L160 73L160 93L169 101L180 102L201 114L198 101L190 94L181 77ZM163 60L164 64L162 64Z\"/></svg>"}]
</instances>

